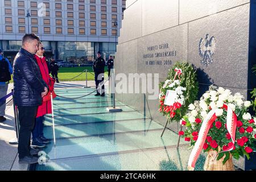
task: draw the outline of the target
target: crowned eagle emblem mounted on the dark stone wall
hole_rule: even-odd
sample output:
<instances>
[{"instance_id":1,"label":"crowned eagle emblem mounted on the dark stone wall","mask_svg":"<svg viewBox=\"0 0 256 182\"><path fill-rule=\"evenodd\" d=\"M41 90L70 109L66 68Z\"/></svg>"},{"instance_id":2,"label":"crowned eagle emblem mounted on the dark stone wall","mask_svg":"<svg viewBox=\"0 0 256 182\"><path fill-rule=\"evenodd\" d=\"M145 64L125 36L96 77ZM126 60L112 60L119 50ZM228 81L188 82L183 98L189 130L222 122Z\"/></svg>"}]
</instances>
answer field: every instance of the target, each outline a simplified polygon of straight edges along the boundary
<instances>
[{"instance_id":1,"label":"crowned eagle emblem mounted on the dark stone wall","mask_svg":"<svg viewBox=\"0 0 256 182\"><path fill-rule=\"evenodd\" d=\"M210 63L213 63L212 56L216 50L216 40L214 36L209 40L209 34L206 35L205 39L201 38L199 43L199 55L203 58L201 64L208 67Z\"/></svg>"}]
</instances>

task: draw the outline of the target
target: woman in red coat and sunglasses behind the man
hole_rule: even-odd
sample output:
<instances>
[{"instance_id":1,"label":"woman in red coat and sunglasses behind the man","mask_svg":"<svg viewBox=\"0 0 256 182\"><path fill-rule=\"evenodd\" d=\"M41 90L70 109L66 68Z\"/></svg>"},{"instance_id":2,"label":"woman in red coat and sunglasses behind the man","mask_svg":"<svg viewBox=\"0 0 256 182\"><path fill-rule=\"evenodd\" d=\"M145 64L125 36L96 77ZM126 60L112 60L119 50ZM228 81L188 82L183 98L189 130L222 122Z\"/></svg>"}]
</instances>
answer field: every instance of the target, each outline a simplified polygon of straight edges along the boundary
<instances>
[{"instance_id":1,"label":"woman in red coat and sunglasses behind the man","mask_svg":"<svg viewBox=\"0 0 256 182\"><path fill-rule=\"evenodd\" d=\"M38 48L39 50L36 52L35 58L40 68L40 72L43 77L43 80L46 82L49 88L49 92L51 92L53 90L54 80L49 76L46 57L43 56L44 47L41 42L39 43ZM45 147L46 144L49 143L50 139L45 138L43 134L43 127L44 127L43 121L44 121L44 115L51 114L51 113L52 113L51 100L42 102L42 105L38 107L38 113L36 114L35 127L34 127L34 130L32 131L31 146Z\"/></svg>"}]
</instances>

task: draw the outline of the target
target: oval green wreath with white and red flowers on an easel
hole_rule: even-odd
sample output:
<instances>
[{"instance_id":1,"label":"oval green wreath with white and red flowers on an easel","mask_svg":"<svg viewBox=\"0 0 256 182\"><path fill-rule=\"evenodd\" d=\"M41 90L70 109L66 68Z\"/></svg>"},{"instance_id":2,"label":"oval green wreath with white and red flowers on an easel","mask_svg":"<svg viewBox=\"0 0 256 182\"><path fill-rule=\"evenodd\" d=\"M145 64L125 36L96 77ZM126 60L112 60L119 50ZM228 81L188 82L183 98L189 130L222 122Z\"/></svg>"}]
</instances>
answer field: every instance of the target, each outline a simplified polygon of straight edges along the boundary
<instances>
[{"instance_id":1,"label":"oval green wreath with white and red flowers on an easel","mask_svg":"<svg viewBox=\"0 0 256 182\"><path fill-rule=\"evenodd\" d=\"M177 62L169 71L166 81L160 83L159 112L166 115L168 121L180 121L188 105L196 100L199 84L196 71L189 63ZM172 102L166 105L168 92L172 94Z\"/></svg>"}]
</instances>

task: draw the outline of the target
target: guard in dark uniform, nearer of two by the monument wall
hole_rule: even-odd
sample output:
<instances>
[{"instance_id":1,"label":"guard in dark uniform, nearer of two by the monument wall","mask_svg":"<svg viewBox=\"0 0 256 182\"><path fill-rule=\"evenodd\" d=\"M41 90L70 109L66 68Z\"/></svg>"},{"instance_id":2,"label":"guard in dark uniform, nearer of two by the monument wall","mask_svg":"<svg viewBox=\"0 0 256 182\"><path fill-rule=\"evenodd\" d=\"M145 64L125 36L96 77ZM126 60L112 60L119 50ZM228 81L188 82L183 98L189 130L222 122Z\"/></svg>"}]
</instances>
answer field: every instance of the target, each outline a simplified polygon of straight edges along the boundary
<instances>
[{"instance_id":1,"label":"guard in dark uniform, nearer of two by the monument wall","mask_svg":"<svg viewBox=\"0 0 256 182\"><path fill-rule=\"evenodd\" d=\"M94 71L94 80L96 84L97 94L95 96L105 96L104 85L98 88L100 82L104 81L104 68L105 68L105 60L101 57L101 52L97 52L97 59L93 62L93 71ZM102 83L101 83L102 84ZM100 93L98 92L100 90Z\"/></svg>"}]
</instances>

